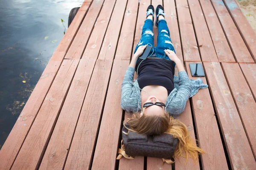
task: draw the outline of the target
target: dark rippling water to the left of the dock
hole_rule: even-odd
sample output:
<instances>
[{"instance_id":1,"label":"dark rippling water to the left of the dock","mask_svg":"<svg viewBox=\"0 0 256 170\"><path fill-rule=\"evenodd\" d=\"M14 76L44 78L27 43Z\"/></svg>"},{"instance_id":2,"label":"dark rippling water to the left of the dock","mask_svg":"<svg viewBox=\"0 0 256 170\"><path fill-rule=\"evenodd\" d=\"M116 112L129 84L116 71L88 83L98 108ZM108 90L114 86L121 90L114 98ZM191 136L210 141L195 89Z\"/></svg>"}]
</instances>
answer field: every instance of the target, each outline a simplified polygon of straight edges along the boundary
<instances>
[{"instance_id":1,"label":"dark rippling water to the left of the dock","mask_svg":"<svg viewBox=\"0 0 256 170\"><path fill-rule=\"evenodd\" d=\"M0 148L83 1L0 0Z\"/></svg>"}]
</instances>

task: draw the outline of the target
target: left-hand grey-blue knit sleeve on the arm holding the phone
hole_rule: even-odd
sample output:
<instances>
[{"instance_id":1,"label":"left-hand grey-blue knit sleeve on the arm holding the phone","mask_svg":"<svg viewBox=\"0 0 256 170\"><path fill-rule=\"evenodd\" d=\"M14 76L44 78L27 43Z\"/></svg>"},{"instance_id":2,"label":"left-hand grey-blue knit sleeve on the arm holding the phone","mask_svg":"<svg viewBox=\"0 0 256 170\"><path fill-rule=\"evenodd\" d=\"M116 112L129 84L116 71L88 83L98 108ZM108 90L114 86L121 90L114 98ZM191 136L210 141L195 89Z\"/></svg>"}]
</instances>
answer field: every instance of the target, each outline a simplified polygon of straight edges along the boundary
<instances>
[{"instance_id":1,"label":"left-hand grey-blue knit sleeve on the arm holding the phone","mask_svg":"<svg viewBox=\"0 0 256 170\"><path fill-rule=\"evenodd\" d=\"M135 69L128 67L121 88L121 108L128 112L138 112L138 98L134 86Z\"/></svg>"}]
</instances>

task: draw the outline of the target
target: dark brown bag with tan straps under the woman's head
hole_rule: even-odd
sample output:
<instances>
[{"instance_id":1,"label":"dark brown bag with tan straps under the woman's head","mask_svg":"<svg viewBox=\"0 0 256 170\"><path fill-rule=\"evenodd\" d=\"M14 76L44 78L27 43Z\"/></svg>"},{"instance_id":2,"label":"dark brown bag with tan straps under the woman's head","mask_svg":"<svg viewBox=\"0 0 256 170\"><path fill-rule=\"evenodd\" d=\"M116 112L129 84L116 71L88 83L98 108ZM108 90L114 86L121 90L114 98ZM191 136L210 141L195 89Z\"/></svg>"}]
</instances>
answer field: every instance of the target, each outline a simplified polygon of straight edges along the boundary
<instances>
[{"instance_id":1,"label":"dark brown bag with tan straps under the woman's head","mask_svg":"<svg viewBox=\"0 0 256 170\"><path fill-rule=\"evenodd\" d=\"M125 126L130 128L127 123ZM119 149L120 155L117 159L121 159L122 156L127 159L134 159L134 156L149 156L173 163L170 159L176 150L177 138L167 133L148 136L128 130L125 126L122 128L122 147Z\"/></svg>"}]
</instances>

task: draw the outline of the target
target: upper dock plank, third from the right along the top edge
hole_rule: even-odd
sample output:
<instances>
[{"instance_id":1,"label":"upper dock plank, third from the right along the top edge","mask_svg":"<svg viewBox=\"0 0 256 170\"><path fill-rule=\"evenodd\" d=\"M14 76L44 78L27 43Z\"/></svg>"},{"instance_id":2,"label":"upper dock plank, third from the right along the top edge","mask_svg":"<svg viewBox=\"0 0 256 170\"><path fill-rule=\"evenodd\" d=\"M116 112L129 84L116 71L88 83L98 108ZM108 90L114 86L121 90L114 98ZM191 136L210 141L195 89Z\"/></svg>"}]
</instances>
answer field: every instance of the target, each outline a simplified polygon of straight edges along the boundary
<instances>
[{"instance_id":1,"label":"upper dock plank, third from the right along the top edge","mask_svg":"<svg viewBox=\"0 0 256 170\"><path fill-rule=\"evenodd\" d=\"M199 0L219 62L236 62L210 0Z\"/></svg>"}]
</instances>

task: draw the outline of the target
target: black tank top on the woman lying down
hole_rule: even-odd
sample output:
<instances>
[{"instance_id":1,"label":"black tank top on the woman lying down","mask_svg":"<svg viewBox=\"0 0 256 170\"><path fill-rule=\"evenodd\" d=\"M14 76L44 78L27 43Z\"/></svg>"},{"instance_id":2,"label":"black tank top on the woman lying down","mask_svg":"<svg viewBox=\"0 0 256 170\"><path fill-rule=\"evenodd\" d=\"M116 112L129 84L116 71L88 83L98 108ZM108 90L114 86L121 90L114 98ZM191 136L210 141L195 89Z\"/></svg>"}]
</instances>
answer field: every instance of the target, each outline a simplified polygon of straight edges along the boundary
<instances>
[{"instance_id":1,"label":"black tank top on the woman lying down","mask_svg":"<svg viewBox=\"0 0 256 170\"><path fill-rule=\"evenodd\" d=\"M136 64L138 83L141 89L147 85L161 85L168 95L174 89L174 62L167 59L140 59Z\"/></svg>"}]
</instances>

